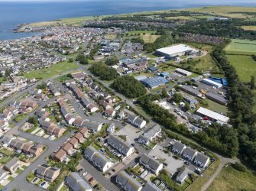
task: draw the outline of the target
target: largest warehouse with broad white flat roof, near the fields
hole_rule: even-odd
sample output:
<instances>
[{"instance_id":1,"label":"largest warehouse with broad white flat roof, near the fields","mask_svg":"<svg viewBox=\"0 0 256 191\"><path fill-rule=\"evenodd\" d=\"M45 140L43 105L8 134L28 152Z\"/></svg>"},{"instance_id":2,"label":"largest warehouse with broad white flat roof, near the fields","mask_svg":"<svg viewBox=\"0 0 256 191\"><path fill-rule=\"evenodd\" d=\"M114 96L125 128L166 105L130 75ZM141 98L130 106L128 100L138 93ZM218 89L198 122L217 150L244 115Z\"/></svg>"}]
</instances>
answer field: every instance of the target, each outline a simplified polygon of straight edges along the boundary
<instances>
[{"instance_id":1,"label":"largest warehouse with broad white flat roof, near the fields","mask_svg":"<svg viewBox=\"0 0 256 191\"><path fill-rule=\"evenodd\" d=\"M173 59L184 55L190 55L197 50L184 44L178 44L172 47L164 47L156 50L156 54L160 57L166 57L167 59Z\"/></svg>"}]
</instances>

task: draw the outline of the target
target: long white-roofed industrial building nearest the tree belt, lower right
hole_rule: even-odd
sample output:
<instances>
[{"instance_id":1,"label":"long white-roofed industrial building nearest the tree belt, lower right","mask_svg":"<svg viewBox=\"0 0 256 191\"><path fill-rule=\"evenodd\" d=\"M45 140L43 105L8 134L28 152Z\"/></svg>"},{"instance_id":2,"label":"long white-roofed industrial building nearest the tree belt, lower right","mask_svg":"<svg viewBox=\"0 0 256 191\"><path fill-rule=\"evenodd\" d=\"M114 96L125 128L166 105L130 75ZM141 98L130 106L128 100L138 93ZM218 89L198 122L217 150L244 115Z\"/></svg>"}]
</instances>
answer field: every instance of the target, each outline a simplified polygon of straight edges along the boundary
<instances>
[{"instance_id":1,"label":"long white-roofed industrial building nearest the tree belt, lower right","mask_svg":"<svg viewBox=\"0 0 256 191\"><path fill-rule=\"evenodd\" d=\"M225 115L221 115L217 112L213 112L207 108L200 107L197 109L196 114L201 115L202 117L207 117L209 120L217 121L220 123L228 123L229 118Z\"/></svg>"}]
</instances>

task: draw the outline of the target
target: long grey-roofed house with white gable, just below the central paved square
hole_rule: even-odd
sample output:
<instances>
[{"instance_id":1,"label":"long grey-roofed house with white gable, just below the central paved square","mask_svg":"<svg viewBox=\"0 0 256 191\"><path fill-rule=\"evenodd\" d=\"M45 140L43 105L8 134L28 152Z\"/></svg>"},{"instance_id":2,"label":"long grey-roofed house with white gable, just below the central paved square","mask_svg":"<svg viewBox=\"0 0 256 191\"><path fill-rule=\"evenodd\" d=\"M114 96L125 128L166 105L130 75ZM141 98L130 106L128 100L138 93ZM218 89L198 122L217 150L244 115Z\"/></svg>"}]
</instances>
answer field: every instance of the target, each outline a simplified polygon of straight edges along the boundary
<instances>
[{"instance_id":1,"label":"long grey-roofed house with white gable, just below the central paved square","mask_svg":"<svg viewBox=\"0 0 256 191\"><path fill-rule=\"evenodd\" d=\"M124 141L116 136L109 135L107 143L124 156L129 156L134 152L134 147L126 144Z\"/></svg>"}]
</instances>

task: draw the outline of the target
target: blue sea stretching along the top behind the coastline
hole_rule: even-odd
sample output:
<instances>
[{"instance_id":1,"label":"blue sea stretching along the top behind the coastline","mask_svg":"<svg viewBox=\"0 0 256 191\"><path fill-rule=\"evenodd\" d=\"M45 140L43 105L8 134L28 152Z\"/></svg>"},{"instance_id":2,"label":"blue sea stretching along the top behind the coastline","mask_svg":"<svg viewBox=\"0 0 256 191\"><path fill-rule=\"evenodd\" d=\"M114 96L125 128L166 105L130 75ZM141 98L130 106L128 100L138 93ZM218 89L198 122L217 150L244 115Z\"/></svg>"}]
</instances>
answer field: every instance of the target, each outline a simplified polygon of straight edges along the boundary
<instances>
[{"instance_id":1,"label":"blue sea stretching along the top behind the coastline","mask_svg":"<svg viewBox=\"0 0 256 191\"><path fill-rule=\"evenodd\" d=\"M35 33L13 33L18 24L94 15L138 11L195 8L209 5L256 7L256 0L0 0L0 40L29 37Z\"/></svg>"}]
</instances>

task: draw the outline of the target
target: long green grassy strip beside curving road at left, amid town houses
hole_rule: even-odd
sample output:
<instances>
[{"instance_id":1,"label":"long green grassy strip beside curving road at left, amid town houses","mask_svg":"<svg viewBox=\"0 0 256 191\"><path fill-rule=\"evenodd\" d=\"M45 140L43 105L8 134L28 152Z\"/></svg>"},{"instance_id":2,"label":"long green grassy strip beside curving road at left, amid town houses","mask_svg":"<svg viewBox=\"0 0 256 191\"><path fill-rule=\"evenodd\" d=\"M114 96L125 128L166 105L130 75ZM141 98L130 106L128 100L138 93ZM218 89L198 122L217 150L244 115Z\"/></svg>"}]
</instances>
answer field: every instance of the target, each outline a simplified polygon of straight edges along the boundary
<instances>
[{"instance_id":1,"label":"long green grassy strip beside curving road at left, amid town houses","mask_svg":"<svg viewBox=\"0 0 256 191\"><path fill-rule=\"evenodd\" d=\"M47 79L53 76L57 76L58 74L66 73L70 70L77 69L78 66L76 63L69 63L68 61L64 61L62 63L57 63L49 68L44 68L40 70L34 70L30 73L24 73L26 78L37 78L37 79Z\"/></svg>"}]
</instances>

